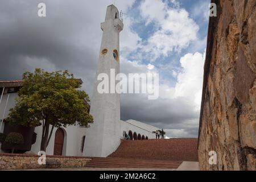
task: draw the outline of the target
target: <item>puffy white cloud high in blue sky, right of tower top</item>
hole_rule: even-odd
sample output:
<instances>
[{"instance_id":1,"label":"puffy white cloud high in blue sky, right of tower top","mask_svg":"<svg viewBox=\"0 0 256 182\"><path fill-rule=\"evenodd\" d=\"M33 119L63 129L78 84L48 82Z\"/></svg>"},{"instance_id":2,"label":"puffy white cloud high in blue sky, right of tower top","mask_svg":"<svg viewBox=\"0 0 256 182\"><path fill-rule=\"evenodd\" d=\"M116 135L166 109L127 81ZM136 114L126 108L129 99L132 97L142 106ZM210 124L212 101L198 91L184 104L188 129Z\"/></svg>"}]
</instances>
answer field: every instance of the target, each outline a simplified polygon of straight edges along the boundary
<instances>
[{"instance_id":1,"label":"puffy white cloud high in blue sky, right of tower top","mask_svg":"<svg viewBox=\"0 0 256 182\"><path fill-rule=\"evenodd\" d=\"M168 7L167 3L160 0L146 0L141 3L140 10L142 17L149 22L155 22L158 30L148 38L143 51L151 61L160 56L168 56L172 51L180 52L189 44L197 40L199 26L189 18L185 9L179 7Z\"/></svg>"}]
</instances>

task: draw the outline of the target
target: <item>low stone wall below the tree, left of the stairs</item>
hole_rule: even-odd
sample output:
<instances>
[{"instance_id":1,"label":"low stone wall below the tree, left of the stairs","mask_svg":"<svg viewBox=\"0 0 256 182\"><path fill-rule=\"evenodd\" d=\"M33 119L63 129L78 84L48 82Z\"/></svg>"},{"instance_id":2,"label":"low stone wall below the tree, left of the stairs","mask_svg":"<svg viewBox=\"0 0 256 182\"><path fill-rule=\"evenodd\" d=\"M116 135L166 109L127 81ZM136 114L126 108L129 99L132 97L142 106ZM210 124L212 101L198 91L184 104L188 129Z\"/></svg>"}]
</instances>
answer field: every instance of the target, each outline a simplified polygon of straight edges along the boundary
<instances>
[{"instance_id":1,"label":"low stone wall below the tree, left of the stairs","mask_svg":"<svg viewBox=\"0 0 256 182\"><path fill-rule=\"evenodd\" d=\"M0 154L0 170L5 169L40 169L46 168L46 165L38 164L38 155L27 154ZM85 167L90 158L79 156L56 156L47 155L46 160L58 160L60 168L78 168Z\"/></svg>"}]
</instances>

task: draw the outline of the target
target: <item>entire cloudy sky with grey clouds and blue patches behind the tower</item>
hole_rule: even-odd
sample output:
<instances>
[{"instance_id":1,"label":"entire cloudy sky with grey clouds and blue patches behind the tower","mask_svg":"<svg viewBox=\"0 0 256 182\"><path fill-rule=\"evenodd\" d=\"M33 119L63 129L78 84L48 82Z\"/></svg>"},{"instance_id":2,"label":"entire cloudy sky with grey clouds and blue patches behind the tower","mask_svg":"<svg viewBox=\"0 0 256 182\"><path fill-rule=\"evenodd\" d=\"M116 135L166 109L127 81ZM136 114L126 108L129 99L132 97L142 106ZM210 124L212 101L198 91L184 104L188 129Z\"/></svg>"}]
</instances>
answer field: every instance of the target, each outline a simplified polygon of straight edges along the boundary
<instances>
[{"instance_id":1,"label":"entire cloudy sky with grey clouds and blue patches behind the tower","mask_svg":"<svg viewBox=\"0 0 256 182\"><path fill-rule=\"evenodd\" d=\"M46 3L46 17L38 4ZM68 69L92 96L106 7L123 13L122 73L159 73L158 100L122 94L121 119L197 137L209 0L0 0L0 80Z\"/></svg>"}]
</instances>

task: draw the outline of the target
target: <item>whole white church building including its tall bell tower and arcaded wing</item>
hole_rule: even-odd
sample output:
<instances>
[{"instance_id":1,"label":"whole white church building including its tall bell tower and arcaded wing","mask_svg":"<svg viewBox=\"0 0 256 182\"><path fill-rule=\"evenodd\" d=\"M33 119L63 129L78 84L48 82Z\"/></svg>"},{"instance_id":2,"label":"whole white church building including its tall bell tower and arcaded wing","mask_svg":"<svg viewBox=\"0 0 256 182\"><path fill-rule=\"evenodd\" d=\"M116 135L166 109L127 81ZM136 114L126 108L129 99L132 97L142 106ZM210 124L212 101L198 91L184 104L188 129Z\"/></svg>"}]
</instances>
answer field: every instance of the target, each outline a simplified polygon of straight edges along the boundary
<instances>
[{"instance_id":1,"label":"whole white church building including its tall bell tower and arcaded wing","mask_svg":"<svg viewBox=\"0 0 256 182\"><path fill-rule=\"evenodd\" d=\"M131 140L153 139L155 134L152 132L159 130L157 127L133 119L121 121L120 94L97 92L98 74L110 75L110 69L115 69L115 74L119 73L119 32L123 30L123 22L114 5L108 6L105 22L101 23L101 29L103 31L101 49L90 104L90 114L93 115L94 123L90 124L89 128L79 126L55 128L47 147L47 155L106 157L117 149L124 135L127 135L126 139ZM20 87L22 87L22 81L0 81L0 92L2 93L0 133L8 134L10 131L20 131L26 145L19 148L18 152L38 154L42 126L30 129L22 126L13 127L2 119L6 118L9 109L14 107ZM0 152L8 150L8 146L0 144Z\"/></svg>"}]
</instances>

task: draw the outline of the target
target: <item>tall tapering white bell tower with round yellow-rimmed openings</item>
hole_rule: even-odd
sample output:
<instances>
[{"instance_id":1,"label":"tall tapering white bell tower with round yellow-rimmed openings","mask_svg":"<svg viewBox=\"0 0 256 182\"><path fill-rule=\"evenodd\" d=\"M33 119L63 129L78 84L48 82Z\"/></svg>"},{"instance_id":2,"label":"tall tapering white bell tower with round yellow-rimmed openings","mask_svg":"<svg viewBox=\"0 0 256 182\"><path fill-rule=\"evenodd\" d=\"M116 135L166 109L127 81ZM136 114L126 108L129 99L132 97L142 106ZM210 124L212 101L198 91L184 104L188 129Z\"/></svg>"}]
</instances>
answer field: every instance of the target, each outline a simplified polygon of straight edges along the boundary
<instances>
[{"instance_id":1,"label":"tall tapering white bell tower with round yellow-rimmed openings","mask_svg":"<svg viewBox=\"0 0 256 182\"><path fill-rule=\"evenodd\" d=\"M119 32L123 30L117 7L110 5L106 10L105 22L101 23L103 31L100 55L98 57L96 82L94 82L90 114L94 123L86 129L84 156L106 157L114 152L120 144L120 95L110 92L110 69L119 73ZM109 93L99 93L97 80L100 73L109 76ZM112 89L113 90L113 89Z\"/></svg>"}]
</instances>

